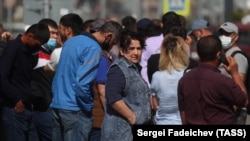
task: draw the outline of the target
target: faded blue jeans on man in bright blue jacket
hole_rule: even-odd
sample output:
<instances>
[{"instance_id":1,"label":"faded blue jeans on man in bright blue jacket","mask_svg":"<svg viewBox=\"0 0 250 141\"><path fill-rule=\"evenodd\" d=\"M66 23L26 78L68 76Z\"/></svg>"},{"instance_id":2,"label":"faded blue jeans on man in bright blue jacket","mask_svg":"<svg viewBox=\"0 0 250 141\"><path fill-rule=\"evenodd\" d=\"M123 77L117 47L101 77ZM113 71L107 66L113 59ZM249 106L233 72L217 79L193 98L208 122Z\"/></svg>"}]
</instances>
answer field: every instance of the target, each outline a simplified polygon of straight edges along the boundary
<instances>
[{"instance_id":1,"label":"faded blue jeans on man in bright blue jacket","mask_svg":"<svg viewBox=\"0 0 250 141\"><path fill-rule=\"evenodd\" d=\"M88 141L92 115L82 111L52 109L53 141Z\"/></svg>"}]
</instances>

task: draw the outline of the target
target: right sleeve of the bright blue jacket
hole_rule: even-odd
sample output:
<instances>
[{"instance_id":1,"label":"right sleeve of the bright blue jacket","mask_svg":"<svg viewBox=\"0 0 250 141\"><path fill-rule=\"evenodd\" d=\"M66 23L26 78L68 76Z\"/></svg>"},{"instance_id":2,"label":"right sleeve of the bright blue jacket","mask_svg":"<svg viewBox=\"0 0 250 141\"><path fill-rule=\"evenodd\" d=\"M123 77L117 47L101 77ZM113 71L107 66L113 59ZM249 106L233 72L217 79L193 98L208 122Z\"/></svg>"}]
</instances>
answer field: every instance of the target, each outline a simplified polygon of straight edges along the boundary
<instances>
[{"instance_id":1,"label":"right sleeve of the bright blue jacket","mask_svg":"<svg viewBox=\"0 0 250 141\"><path fill-rule=\"evenodd\" d=\"M93 107L93 91L91 87L96 78L98 65L101 57L101 48L98 46L88 46L79 56L79 62L75 73L75 96L78 106L91 112Z\"/></svg>"}]
</instances>

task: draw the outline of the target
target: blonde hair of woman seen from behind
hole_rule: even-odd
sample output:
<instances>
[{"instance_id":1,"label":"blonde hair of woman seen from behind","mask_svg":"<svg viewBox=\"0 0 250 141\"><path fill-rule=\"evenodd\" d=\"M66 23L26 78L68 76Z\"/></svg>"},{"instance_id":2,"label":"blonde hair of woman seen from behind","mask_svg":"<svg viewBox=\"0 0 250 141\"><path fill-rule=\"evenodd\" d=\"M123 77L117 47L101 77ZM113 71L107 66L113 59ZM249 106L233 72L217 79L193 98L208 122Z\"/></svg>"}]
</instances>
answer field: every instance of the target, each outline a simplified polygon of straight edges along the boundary
<instances>
[{"instance_id":1,"label":"blonde hair of woman seen from behind","mask_svg":"<svg viewBox=\"0 0 250 141\"><path fill-rule=\"evenodd\" d=\"M183 38L167 34L161 45L159 70L171 74L174 69L177 71L186 69L189 64L187 49Z\"/></svg>"}]
</instances>

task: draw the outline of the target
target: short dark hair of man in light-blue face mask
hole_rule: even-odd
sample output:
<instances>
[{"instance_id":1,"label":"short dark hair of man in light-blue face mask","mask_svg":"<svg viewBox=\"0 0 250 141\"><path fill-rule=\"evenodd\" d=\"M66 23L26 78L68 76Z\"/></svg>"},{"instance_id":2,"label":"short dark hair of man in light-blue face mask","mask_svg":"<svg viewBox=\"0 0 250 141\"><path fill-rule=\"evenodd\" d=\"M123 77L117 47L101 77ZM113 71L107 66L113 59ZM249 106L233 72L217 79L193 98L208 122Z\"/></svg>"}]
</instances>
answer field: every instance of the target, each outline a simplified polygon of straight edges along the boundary
<instances>
[{"instance_id":1,"label":"short dark hair of man in light-blue face mask","mask_svg":"<svg viewBox=\"0 0 250 141\"><path fill-rule=\"evenodd\" d=\"M42 23L31 25L26 30L25 34L27 33L32 33L34 35L34 38L39 40L42 44L47 43L50 38L48 25Z\"/></svg>"}]
</instances>

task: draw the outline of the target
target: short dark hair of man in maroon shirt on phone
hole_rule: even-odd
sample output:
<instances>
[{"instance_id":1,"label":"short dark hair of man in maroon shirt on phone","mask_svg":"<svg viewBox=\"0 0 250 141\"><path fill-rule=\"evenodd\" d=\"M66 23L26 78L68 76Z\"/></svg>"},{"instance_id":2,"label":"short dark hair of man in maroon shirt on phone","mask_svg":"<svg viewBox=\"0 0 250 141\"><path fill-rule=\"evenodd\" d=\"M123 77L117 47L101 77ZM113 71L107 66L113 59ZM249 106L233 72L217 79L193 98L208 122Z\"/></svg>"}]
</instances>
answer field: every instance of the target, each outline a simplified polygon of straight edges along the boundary
<instances>
[{"instance_id":1,"label":"short dark hair of man in maroon shirt on phone","mask_svg":"<svg viewBox=\"0 0 250 141\"><path fill-rule=\"evenodd\" d=\"M216 59L219 51L222 51L222 44L220 39L215 35L202 37L197 42L197 53L201 62Z\"/></svg>"}]
</instances>

